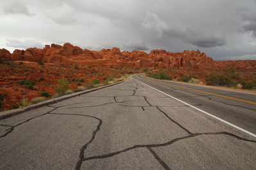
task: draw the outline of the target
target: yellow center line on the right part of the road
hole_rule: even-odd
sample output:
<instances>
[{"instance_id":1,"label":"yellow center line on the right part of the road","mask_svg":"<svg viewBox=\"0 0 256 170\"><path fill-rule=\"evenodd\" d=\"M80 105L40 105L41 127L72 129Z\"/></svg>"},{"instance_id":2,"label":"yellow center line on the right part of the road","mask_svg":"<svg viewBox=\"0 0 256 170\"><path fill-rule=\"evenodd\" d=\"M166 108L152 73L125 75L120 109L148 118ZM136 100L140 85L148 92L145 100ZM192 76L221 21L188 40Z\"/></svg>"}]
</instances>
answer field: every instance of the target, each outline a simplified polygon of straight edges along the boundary
<instances>
[{"instance_id":1,"label":"yellow center line on the right part of the road","mask_svg":"<svg viewBox=\"0 0 256 170\"><path fill-rule=\"evenodd\" d=\"M145 78L145 77L143 77L143 78ZM152 79L152 78L145 78L145 79L148 80L148 79ZM232 99L234 101L241 101L241 102L244 102L244 103L256 104L253 101L246 101L246 100L243 100L243 99L237 99L237 98L234 98L234 97L223 96L223 95L220 95L220 94L214 94L214 93L205 92L205 91L202 91L202 90L191 89L189 87L183 87L183 86L180 86L180 85L173 85L173 84L170 84L170 83L164 83L164 82L156 81L156 80L149 80L149 81L154 81L156 83L160 83L160 84L163 84L163 85L170 85L170 86L173 86L173 87L179 87L179 88L182 88L182 89L193 90L193 91L201 92L201 93L204 93L204 94L211 94L211 95L214 95L214 96L224 97L224 98L227 98L227 99Z\"/></svg>"}]
</instances>

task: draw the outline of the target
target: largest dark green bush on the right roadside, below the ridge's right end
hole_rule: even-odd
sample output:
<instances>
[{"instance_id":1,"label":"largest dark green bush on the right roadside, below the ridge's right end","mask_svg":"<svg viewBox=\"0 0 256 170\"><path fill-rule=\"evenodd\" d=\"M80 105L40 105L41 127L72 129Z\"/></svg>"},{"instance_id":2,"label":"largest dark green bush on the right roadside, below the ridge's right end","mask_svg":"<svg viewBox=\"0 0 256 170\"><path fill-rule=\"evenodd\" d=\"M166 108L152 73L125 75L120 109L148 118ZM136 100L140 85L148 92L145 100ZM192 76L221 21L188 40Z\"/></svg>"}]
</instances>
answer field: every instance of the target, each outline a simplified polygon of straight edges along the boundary
<instances>
[{"instance_id":1,"label":"largest dark green bush on the right roadside, below the ridge's right end","mask_svg":"<svg viewBox=\"0 0 256 170\"><path fill-rule=\"evenodd\" d=\"M231 87L234 85L234 82L228 76L224 74L215 74L211 73L205 78L207 85L221 85Z\"/></svg>"}]
</instances>

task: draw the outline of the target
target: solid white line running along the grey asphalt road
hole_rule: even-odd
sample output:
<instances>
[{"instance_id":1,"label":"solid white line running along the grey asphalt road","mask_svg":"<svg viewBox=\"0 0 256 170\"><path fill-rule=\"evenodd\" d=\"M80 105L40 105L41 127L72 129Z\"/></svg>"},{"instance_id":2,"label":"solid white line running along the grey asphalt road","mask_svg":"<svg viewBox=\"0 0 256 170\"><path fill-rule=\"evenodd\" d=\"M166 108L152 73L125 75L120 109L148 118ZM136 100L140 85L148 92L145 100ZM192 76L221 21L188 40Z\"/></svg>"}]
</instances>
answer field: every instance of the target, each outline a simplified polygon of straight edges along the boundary
<instances>
[{"instance_id":1,"label":"solid white line running along the grey asphalt road","mask_svg":"<svg viewBox=\"0 0 256 170\"><path fill-rule=\"evenodd\" d=\"M135 78L132 78L132 79L136 80ZM143 82L141 82L140 80L136 80L136 81L139 81L140 83L143 83ZM143 85L147 85L147 84L143 83ZM147 86L150 87L150 88L152 88L152 89L154 89L154 90L157 90L157 89L155 89L154 87L151 87L150 85L147 85ZM246 131L245 129L243 129L243 128L241 128L241 127L238 127L237 125L231 124L231 123L227 122L226 120L223 120L223 119L218 118L218 117L216 117L216 116L214 116L214 115L211 115L210 113L208 113L208 112L206 112L206 111L204 111L204 110L200 110L199 108L196 108L195 106L192 106L191 104L188 104L188 103L186 103L186 102L184 102L184 101L181 101L180 99L177 99L176 97L170 96L169 94L166 94L166 93L164 93L164 92L162 92L162 91L160 91L160 90L157 90L157 91L158 91L158 92L161 92L161 93L163 93L163 94L165 94L166 96L172 97L173 99L175 99L175 100L177 100L177 101L180 101L181 103L187 104L188 106L190 106L191 108L194 108L195 110L201 111L202 113L205 113L206 115L209 115L210 117L216 118L217 120L220 120L221 122L223 122L223 123L225 123L225 124L228 124L228 125L230 125L230 126L236 128L236 129L239 129L240 131L243 131L243 132L245 132L246 134L249 134L250 136L253 136L254 138L256 138L256 134L253 134L252 132Z\"/></svg>"}]
</instances>

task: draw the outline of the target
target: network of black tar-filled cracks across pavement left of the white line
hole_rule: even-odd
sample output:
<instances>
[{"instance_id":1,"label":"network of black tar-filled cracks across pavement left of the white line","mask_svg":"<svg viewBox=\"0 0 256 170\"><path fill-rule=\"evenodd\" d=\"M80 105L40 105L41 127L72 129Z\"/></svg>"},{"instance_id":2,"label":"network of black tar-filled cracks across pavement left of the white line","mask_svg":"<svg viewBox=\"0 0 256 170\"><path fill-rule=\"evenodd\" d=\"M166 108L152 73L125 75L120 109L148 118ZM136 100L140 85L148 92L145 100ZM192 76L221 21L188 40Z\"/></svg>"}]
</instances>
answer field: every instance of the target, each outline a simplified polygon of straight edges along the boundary
<instances>
[{"instance_id":1,"label":"network of black tar-filled cracks across pavement left of the white line","mask_svg":"<svg viewBox=\"0 0 256 170\"><path fill-rule=\"evenodd\" d=\"M138 90L138 82L137 81L134 81L136 82L136 87L132 87L134 88L134 93L132 94L132 96L135 95L136 93L136 90ZM142 86L142 85L141 85ZM145 87L144 87L145 88ZM101 96L80 96L80 97L101 97ZM104 103L104 104L99 104L99 105L95 105L95 106L84 106L84 107L76 107L76 108L86 108L86 107L97 107L97 106L103 106L103 105L106 105L106 104L118 104L120 106L128 106L128 105L122 105L122 104L119 104L119 103L125 103L125 102L128 102L128 101L118 101L117 97L120 97L120 96L102 96L102 97L114 97L114 101L115 102L111 102L111 103ZM122 96L124 97L124 96ZM125 97L128 97L128 96L125 96ZM159 155L157 155L157 153L153 150L153 148L158 148L158 147L163 147L163 146L169 146L169 145L172 145L173 143L175 142L178 142L178 141L182 141L182 140L185 140L185 139L189 139L189 138L194 138L196 136L207 136L207 135L227 135L227 136L230 136L232 138L236 138L236 139L239 139L241 141L246 141L246 142L252 142L252 143L256 143L256 141L253 141L251 139L246 139L246 138L242 138L240 136L237 136L236 134L232 134L230 132L205 132L205 133L192 133L190 132L188 129L186 129L185 127L183 127L182 125L180 125L178 122L176 122L175 120L173 120L172 118L170 118L163 110L161 110L159 107L184 107L184 106L187 106L187 105L182 105L182 106L153 106L152 104L150 104L147 100L147 98L150 98L150 97L146 97L146 96L136 96L136 97L143 97L145 99L145 101L147 102L148 106L129 106L129 107L141 107L143 111L145 111L145 108L146 107L156 107L158 111L160 111L161 113L163 113L163 115L168 118L169 120L171 120L173 123L177 124L181 129L184 129L184 131L188 132L188 136L182 136L180 138L175 138L175 139L172 139L170 141L167 141L166 143L157 143L157 144L150 144L150 145L134 145L134 146L131 146L129 148L125 148L124 150L120 150L120 151L116 151L116 152L111 152L111 153L106 153L106 154L103 154L103 155L97 155L97 156L93 156L93 157L86 157L86 155L84 154L85 151L86 151L86 148L88 147L88 145L90 145L90 143L92 143L97 135L97 132L100 131L100 127L102 125L102 120L100 118L97 118L97 117L93 117L93 116L90 116L90 115L81 115L81 114L67 114L67 113L52 113L52 111L54 110L57 110L58 108L61 108L63 106L49 106L49 107L52 107L54 108L53 110L51 111L48 111L47 113L44 113L42 115L38 115L36 117L32 117L32 118L28 118L27 120L25 120L24 122L21 122L20 124L17 124L17 125L5 125L5 124L0 124L1 126L4 126L4 127L10 127L9 129L6 129L6 133L3 134L2 136L0 136L0 138L3 138L4 136L7 136L8 134L10 134L14 129L15 127L18 127L19 125L22 125L22 124L25 124L26 122L29 122L30 120L33 120L34 118L38 118L38 117L42 117L44 115L72 115L72 116L82 116L82 117L90 117L90 118L94 118L96 119L97 121L99 121L99 124L97 125L97 128L93 131L92 133L92 138L90 138L90 141L88 141L87 143L85 143L81 149L80 149L80 152L79 152L79 160L77 161L77 164L76 164L76 169L80 169L81 168L81 165L83 164L83 162L85 161L88 161L88 160L93 160L93 159L105 159L105 158L108 158L108 157L113 157L115 155L118 155L120 153L125 153L125 152L128 152L129 150L134 150L136 148L146 148L150 153L152 153L152 155L154 155L155 159L159 162L159 164L161 164L161 166L164 167L164 169L170 169L170 167L159 157ZM153 97L152 97L153 98ZM88 103L88 102L86 102ZM67 104L65 106L70 106L70 105L74 105L74 104L84 104L84 103L72 103L72 104ZM75 108L75 107L74 107ZM69 108L69 109L72 109L72 108Z\"/></svg>"}]
</instances>

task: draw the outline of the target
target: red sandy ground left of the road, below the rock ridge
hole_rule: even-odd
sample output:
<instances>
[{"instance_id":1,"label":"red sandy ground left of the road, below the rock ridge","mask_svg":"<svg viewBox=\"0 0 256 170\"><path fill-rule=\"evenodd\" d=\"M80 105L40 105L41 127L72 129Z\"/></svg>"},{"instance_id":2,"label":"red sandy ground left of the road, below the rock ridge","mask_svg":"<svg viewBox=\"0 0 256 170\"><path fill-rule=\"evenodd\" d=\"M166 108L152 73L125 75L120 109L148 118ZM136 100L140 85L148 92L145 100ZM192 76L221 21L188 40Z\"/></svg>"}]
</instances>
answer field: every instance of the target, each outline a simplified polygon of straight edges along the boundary
<instances>
[{"instance_id":1,"label":"red sandy ground left of the road, below the rock ridge","mask_svg":"<svg viewBox=\"0 0 256 170\"><path fill-rule=\"evenodd\" d=\"M0 94L3 94L4 101L0 111L8 110L13 104L19 104L22 97L27 97L28 101L35 97L40 97L41 92L49 92L54 95L55 87L58 80L66 78L70 81L70 89L77 89L78 86L85 85L93 79L104 81L104 77L114 75L120 77L122 74L138 73L132 69L115 69L110 67L88 67L77 66L75 69L73 64L56 65L44 64L39 65L36 62L10 62L10 65L0 65ZM40 77L45 80L38 81ZM74 81L74 79L84 79L84 82ZM29 90L21 87L18 81L30 80L35 81L36 90Z\"/></svg>"}]
</instances>

